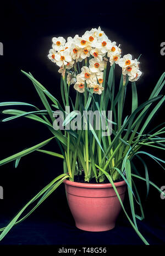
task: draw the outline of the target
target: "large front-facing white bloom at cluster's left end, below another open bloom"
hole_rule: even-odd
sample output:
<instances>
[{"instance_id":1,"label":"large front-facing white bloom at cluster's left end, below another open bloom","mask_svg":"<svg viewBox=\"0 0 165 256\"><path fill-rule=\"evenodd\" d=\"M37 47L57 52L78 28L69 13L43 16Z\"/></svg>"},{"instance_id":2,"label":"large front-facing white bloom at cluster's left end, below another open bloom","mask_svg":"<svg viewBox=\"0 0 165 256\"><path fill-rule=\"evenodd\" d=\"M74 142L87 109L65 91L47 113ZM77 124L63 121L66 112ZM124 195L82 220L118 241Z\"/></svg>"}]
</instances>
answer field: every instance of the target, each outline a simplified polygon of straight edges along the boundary
<instances>
[{"instance_id":1,"label":"large front-facing white bloom at cluster's left end, below another open bloom","mask_svg":"<svg viewBox=\"0 0 165 256\"><path fill-rule=\"evenodd\" d=\"M72 61L72 57L70 56L69 50L61 50L55 54L56 64L61 67L63 65L67 65Z\"/></svg>"}]
</instances>

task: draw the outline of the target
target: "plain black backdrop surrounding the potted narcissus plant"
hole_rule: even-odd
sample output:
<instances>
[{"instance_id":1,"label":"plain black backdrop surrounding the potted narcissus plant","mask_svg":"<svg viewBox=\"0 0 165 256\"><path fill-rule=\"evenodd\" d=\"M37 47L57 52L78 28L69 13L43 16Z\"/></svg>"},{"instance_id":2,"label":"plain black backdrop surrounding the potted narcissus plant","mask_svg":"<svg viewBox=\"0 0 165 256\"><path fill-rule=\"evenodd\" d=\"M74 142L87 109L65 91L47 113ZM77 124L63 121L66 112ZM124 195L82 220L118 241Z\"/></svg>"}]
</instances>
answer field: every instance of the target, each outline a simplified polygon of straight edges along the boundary
<instances>
[{"instance_id":1,"label":"plain black backdrop surrounding the potted narcissus plant","mask_svg":"<svg viewBox=\"0 0 165 256\"><path fill-rule=\"evenodd\" d=\"M165 56L160 54L160 45L165 41L163 15L163 1L8 1L3 3L0 41L4 46L4 55L0 56L0 102L21 101L31 103L40 109L44 108L31 81L20 70L30 71L60 100L61 75L57 72L58 67L47 58L48 51L52 48L53 36L64 36L67 39L67 36L82 35L86 30L97 28L99 25L109 39L122 45L123 55L130 53L134 58L138 58L142 54L140 69L143 74L137 82L137 88L139 103L146 101L165 71ZM71 93L74 92L71 90ZM14 107L4 107L1 110L7 108ZM18 109L29 111L31 108ZM130 113L130 109L131 87L128 85L125 115ZM1 119L3 118L4 115L1 114ZM150 129L163 121L162 107L152 120ZM52 137L44 125L26 118L1 122L0 129L0 159ZM60 153L55 141L45 149ZM161 150L144 149L157 157L164 158ZM159 187L165 185L163 169L153 160L147 157L145 159L150 171L150 180ZM144 176L145 171L139 161L135 160L134 163ZM4 199L0 200L1 227L8 223L32 196L62 172L61 159L38 152L22 158L17 169L14 168L13 162L1 166L0 185L4 189ZM145 182L138 181L137 184L143 196L142 203L146 214L146 221L138 222L141 225L141 232L146 235L151 244L163 244L165 200L161 200L159 192L151 187L146 201ZM125 207L128 208L127 198L125 198ZM29 227L28 232L26 232L27 227ZM35 237L35 233L32 233L34 230L42 235L39 238L37 235ZM56 239L49 239L49 235L52 234L53 237L54 232ZM43 233L46 233L45 238L40 239ZM81 241L76 239L78 234L82 235ZM78 231L74 227L74 220L67 205L64 185L62 185L27 221L19 227L14 227L3 239L2 244L83 244L87 241L91 244L95 242L97 244L104 242L105 244L141 244L124 213L120 214L116 229L97 235L98 237L94 233L89 235L88 232Z\"/></svg>"}]
</instances>

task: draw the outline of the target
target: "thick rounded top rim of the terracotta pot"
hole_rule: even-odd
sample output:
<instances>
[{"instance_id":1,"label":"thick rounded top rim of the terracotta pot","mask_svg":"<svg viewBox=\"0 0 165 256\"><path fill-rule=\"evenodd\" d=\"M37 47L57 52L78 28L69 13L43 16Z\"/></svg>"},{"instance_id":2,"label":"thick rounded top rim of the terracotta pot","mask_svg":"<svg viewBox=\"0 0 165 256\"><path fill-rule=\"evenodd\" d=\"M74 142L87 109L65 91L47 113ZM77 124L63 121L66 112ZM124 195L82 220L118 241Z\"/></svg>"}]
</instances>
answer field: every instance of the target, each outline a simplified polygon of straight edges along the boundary
<instances>
[{"instance_id":1,"label":"thick rounded top rim of the terracotta pot","mask_svg":"<svg viewBox=\"0 0 165 256\"><path fill-rule=\"evenodd\" d=\"M83 182L70 181L70 180L67 180L67 179L64 180L63 182L64 182L64 184L70 185L70 186L73 186L73 187L87 187L87 188L91 188L91 189L105 189L107 187L112 187L111 183L100 183L100 184L83 183ZM125 180L122 180L122 181L114 182L114 185L116 187L124 186L124 185L126 185L126 182L125 182Z\"/></svg>"}]
</instances>

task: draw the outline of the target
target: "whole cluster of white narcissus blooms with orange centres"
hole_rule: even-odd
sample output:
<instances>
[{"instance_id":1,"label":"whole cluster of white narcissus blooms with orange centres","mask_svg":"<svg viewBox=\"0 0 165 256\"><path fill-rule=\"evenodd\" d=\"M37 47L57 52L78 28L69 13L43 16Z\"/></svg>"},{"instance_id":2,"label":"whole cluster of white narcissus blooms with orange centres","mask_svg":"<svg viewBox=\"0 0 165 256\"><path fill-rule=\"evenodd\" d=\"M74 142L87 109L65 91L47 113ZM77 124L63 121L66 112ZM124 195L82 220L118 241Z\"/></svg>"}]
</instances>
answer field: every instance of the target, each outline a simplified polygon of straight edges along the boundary
<instances>
[{"instance_id":1,"label":"whole cluster of white narcissus blooms with orange centres","mask_svg":"<svg viewBox=\"0 0 165 256\"><path fill-rule=\"evenodd\" d=\"M122 58L120 47L109 40L100 27L92 28L82 36L69 36L67 41L62 36L54 37L52 41L48 58L60 67L62 75L67 71L68 85L74 84L75 90L81 93L85 87L93 88L93 92L99 95L102 93L103 71L108 60L111 66L118 64L122 67L122 74L128 75L131 82L137 81L142 74L140 62L133 60L131 54ZM78 62L83 62L81 69Z\"/></svg>"}]
</instances>

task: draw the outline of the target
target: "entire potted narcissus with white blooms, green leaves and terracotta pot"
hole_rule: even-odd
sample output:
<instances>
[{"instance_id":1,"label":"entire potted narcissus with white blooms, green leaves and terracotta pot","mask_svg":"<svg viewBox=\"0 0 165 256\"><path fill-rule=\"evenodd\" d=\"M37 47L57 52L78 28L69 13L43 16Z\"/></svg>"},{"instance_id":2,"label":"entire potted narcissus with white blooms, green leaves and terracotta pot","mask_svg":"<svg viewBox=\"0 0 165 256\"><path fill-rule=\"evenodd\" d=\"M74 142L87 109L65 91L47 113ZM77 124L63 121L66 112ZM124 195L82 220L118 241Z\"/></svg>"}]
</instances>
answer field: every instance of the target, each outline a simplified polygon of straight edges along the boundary
<instances>
[{"instance_id":1,"label":"entire potted narcissus with white blooms, green leaves and terracotta pot","mask_svg":"<svg viewBox=\"0 0 165 256\"><path fill-rule=\"evenodd\" d=\"M30 72L21 70L32 81L45 109L40 110L25 102L2 102L0 106L29 106L29 112L4 110L2 113L11 116L2 121L20 117L34 119L47 126L53 136L1 160L0 165L10 161L18 165L20 158L37 150L62 158L63 174L38 192L6 227L0 229L0 240L64 182L69 207L78 228L87 231L112 229L120 208L123 208L135 232L145 244L149 244L136 224L137 218L143 220L144 212L135 181L146 181L147 192L149 185L152 185L162 193L149 180L147 166L140 155L146 154L157 163L164 163L162 159L142 151L141 147L164 149L164 138L161 137L164 127L160 124L149 133L145 130L165 99L160 95L165 73L153 88L149 100L139 106L136 81L142 74L140 56L138 59L133 59L130 54L122 57L120 45L109 40L100 27L86 31L82 36L69 37L67 42L62 36L54 37L52 41L48 58L59 66L62 103ZM121 71L119 85L115 85L116 69ZM123 116L126 89L130 83L131 107L128 116ZM151 108L153 104L154 108ZM54 139L62 154L41 149ZM134 156L138 156L144 165L145 177L136 170ZM126 189L131 217L123 205ZM36 205L22 216L34 202ZM139 205L141 216L135 213L135 203Z\"/></svg>"}]
</instances>

